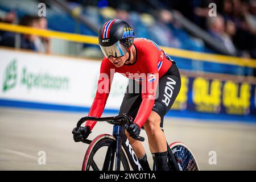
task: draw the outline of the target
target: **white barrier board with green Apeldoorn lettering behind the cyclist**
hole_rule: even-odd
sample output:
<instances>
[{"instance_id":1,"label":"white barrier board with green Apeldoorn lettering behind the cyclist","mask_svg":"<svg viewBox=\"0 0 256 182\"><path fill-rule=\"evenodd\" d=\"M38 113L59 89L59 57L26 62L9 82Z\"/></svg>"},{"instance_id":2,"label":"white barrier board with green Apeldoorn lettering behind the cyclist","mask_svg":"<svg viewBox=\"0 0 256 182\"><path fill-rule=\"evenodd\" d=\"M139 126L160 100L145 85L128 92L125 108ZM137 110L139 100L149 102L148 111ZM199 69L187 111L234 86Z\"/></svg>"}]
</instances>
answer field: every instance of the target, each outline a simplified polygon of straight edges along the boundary
<instances>
[{"instance_id":1,"label":"white barrier board with green Apeldoorn lettering behind the cyclist","mask_svg":"<svg viewBox=\"0 0 256 182\"><path fill-rule=\"evenodd\" d=\"M100 64L100 61L0 49L0 99L90 107ZM115 74L106 108L119 108L127 82L127 78Z\"/></svg>"}]
</instances>

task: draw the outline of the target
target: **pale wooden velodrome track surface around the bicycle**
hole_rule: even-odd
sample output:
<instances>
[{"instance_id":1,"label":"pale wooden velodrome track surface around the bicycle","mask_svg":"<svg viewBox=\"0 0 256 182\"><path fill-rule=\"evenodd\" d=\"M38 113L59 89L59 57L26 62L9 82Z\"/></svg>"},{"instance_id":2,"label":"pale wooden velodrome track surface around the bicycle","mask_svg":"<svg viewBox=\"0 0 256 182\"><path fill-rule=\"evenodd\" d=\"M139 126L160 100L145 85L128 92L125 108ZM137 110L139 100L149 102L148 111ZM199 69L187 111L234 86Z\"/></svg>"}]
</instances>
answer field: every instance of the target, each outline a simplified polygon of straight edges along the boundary
<instances>
[{"instance_id":1,"label":"pale wooden velodrome track surface around the bicycle","mask_svg":"<svg viewBox=\"0 0 256 182\"><path fill-rule=\"evenodd\" d=\"M88 145L73 142L71 131L82 116L0 107L0 169L80 170ZM112 126L97 123L89 139L102 133L111 134ZM169 143L181 141L191 147L201 170L256 170L253 123L166 118L164 133ZM141 134L146 137L143 130ZM143 144L152 165L147 142ZM38 164L39 151L46 152L46 165ZM209 151L216 151L217 164L208 163Z\"/></svg>"}]
</instances>

